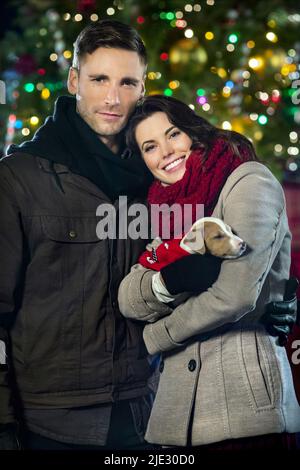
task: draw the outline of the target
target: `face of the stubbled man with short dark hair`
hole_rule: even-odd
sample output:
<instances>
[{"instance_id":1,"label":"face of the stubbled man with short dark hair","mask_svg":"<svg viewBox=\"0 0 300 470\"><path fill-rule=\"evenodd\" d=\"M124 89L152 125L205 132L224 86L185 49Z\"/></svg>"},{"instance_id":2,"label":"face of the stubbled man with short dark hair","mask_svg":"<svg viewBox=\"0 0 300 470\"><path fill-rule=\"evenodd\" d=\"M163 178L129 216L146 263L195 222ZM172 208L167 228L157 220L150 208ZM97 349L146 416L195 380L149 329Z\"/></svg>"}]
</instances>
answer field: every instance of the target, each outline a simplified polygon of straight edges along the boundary
<instances>
[{"instance_id":1,"label":"face of the stubbled man with short dark hair","mask_svg":"<svg viewBox=\"0 0 300 470\"><path fill-rule=\"evenodd\" d=\"M70 69L68 90L76 95L77 111L104 142L127 124L144 95L145 66L136 52L99 47Z\"/></svg>"}]
</instances>

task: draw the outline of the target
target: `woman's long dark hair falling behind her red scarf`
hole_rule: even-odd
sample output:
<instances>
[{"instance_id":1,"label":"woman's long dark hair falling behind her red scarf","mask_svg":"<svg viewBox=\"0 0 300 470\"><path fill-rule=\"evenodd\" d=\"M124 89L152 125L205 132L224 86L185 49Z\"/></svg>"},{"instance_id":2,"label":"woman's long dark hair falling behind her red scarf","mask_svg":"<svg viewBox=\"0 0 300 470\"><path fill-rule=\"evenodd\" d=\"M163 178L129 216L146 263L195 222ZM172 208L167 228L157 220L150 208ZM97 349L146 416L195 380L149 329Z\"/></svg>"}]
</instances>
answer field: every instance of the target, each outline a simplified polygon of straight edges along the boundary
<instances>
[{"instance_id":1,"label":"woman's long dark hair falling behind her red scarf","mask_svg":"<svg viewBox=\"0 0 300 470\"><path fill-rule=\"evenodd\" d=\"M203 162L205 162L210 148L218 138L228 142L233 152L238 155L241 160L244 159L243 156L246 154L247 160L249 160L249 157L252 160L258 160L252 143L242 134L218 129L206 119L198 116L182 101L165 95L147 96L143 99L141 104L136 107L126 132L126 143L132 152L140 153L135 137L138 124L157 112L165 113L174 126L185 132L192 139L192 149L201 147L205 150Z\"/></svg>"}]
</instances>

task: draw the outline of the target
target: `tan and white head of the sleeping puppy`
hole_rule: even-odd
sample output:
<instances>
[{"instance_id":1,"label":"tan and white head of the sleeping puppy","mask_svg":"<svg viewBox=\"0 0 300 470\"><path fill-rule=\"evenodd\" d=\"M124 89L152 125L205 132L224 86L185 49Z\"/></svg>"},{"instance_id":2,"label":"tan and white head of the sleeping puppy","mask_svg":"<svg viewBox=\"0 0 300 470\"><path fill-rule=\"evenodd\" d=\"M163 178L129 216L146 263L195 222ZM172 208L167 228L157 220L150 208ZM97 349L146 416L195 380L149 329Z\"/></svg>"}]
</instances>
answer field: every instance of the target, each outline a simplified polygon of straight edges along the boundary
<instances>
[{"instance_id":1,"label":"tan and white head of the sleeping puppy","mask_svg":"<svg viewBox=\"0 0 300 470\"><path fill-rule=\"evenodd\" d=\"M189 253L210 253L224 259L241 256L246 243L232 232L231 227L216 217L197 220L180 242L180 247Z\"/></svg>"}]
</instances>

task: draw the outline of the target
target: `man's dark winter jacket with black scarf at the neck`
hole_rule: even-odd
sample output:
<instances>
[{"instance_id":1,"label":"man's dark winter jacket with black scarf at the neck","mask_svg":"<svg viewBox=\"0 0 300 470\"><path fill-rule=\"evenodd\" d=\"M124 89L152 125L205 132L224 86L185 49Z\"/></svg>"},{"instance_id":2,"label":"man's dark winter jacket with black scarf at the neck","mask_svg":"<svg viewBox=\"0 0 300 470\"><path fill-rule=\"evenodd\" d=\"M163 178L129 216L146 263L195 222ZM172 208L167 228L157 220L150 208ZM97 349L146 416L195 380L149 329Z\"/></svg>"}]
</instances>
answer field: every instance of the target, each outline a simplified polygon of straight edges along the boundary
<instances>
[{"instance_id":1,"label":"man's dark winter jacket with black scarf at the neck","mask_svg":"<svg viewBox=\"0 0 300 470\"><path fill-rule=\"evenodd\" d=\"M145 240L99 239L100 204L144 197L150 178L136 157L109 151L58 100L34 139L0 162L0 423L13 394L27 408L69 408L148 392L143 325L123 318L117 290ZM114 202L112 202L114 201Z\"/></svg>"}]
</instances>

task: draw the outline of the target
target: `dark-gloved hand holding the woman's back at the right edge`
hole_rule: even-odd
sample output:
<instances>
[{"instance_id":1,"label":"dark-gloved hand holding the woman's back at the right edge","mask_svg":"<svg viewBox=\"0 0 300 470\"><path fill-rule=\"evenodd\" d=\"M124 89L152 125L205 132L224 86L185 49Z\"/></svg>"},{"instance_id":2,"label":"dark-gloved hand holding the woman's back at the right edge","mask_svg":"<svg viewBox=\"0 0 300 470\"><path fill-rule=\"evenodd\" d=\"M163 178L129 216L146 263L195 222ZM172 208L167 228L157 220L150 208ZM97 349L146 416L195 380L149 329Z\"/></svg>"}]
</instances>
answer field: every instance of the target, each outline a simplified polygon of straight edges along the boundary
<instances>
[{"instance_id":1,"label":"dark-gloved hand holding the woman's back at the right edge","mask_svg":"<svg viewBox=\"0 0 300 470\"><path fill-rule=\"evenodd\" d=\"M270 302L261 318L267 332L271 336L278 336L278 343L284 346L293 326L297 323L297 297L296 290L299 282L292 277L286 282L283 301Z\"/></svg>"}]
</instances>

